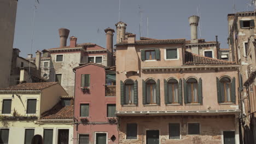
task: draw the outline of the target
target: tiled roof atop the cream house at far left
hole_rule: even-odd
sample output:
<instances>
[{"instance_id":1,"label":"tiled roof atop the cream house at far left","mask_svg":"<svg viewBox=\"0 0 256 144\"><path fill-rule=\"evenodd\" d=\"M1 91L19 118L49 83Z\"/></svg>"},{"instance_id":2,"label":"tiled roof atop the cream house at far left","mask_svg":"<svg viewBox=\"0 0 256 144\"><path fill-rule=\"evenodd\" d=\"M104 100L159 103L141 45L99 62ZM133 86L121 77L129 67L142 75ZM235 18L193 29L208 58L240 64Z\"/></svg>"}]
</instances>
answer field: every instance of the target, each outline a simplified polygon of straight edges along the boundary
<instances>
[{"instance_id":1,"label":"tiled roof atop the cream house at far left","mask_svg":"<svg viewBox=\"0 0 256 144\"><path fill-rule=\"evenodd\" d=\"M35 83L20 83L19 85L8 88L1 88L0 91L40 91L44 88L56 85L59 82L35 82Z\"/></svg>"}]
</instances>

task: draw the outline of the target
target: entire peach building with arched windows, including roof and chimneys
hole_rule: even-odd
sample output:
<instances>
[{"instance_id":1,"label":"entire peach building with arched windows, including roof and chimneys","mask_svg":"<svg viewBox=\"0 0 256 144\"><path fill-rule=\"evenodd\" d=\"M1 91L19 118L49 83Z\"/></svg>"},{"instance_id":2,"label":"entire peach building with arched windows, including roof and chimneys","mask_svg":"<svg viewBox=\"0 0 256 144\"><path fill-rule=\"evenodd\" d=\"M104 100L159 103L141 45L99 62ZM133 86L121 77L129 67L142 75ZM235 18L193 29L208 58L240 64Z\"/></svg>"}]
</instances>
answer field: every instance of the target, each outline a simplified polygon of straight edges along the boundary
<instances>
[{"instance_id":1,"label":"entire peach building with arched windows, including roof and chimneys","mask_svg":"<svg viewBox=\"0 0 256 144\"><path fill-rule=\"evenodd\" d=\"M198 21L189 17L191 48L185 39L117 35L119 143L240 143L239 65L203 56ZM125 33L124 22L116 26Z\"/></svg>"}]
</instances>

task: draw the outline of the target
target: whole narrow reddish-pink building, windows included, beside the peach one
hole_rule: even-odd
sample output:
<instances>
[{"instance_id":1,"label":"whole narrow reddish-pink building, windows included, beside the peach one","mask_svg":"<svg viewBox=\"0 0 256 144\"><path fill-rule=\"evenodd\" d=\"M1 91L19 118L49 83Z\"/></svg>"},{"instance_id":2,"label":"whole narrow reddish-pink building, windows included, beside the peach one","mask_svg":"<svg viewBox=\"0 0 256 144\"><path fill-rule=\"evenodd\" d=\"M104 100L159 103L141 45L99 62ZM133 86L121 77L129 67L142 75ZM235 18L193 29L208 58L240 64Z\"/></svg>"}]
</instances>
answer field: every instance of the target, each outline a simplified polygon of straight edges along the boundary
<instances>
[{"instance_id":1,"label":"whole narrow reddish-pink building, windows included, beside the peach one","mask_svg":"<svg viewBox=\"0 0 256 144\"><path fill-rule=\"evenodd\" d=\"M118 143L115 71L111 70L95 63L74 68L74 143Z\"/></svg>"}]
</instances>

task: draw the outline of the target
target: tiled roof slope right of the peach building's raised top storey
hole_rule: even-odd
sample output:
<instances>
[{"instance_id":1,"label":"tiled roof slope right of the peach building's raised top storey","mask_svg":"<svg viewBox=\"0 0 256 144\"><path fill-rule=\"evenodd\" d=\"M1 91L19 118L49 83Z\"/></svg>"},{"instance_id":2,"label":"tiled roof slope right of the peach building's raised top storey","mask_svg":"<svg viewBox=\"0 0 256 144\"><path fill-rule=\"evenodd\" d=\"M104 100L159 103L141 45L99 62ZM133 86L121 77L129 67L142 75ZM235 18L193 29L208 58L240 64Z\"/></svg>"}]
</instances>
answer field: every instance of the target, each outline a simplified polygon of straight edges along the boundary
<instances>
[{"instance_id":1,"label":"tiled roof slope right of the peach building's raised top storey","mask_svg":"<svg viewBox=\"0 0 256 144\"><path fill-rule=\"evenodd\" d=\"M194 53L185 51L185 65L195 64L235 64L235 62L224 61L216 58L203 57L195 55Z\"/></svg>"}]
</instances>

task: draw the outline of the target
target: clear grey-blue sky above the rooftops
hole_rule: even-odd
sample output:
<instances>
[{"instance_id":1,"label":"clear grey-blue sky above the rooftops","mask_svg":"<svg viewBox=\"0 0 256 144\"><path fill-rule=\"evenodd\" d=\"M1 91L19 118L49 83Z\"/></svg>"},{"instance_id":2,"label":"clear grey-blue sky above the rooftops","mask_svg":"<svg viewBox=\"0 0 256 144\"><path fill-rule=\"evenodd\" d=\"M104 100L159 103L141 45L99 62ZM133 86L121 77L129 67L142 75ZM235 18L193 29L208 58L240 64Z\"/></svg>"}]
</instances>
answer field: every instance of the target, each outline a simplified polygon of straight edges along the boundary
<instances>
[{"instance_id":1,"label":"clear grey-blue sky above the rooftops","mask_svg":"<svg viewBox=\"0 0 256 144\"><path fill-rule=\"evenodd\" d=\"M191 15L200 16L198 38L212 41L218 35L220 48L226 49L228 14L254 9L249 5L251 0L120 0L119 19L119 0L38 0L33 28L35 1L18 1L14 47L20 49L22 57L59 47L59 28L68 28L69 37L77 37L77 43L106 47L104 29L116 30L119 20L127 23L126 32L136 34L137 40L140 21L141 37L189 40Z\"/></svg>"}]
</instances>

